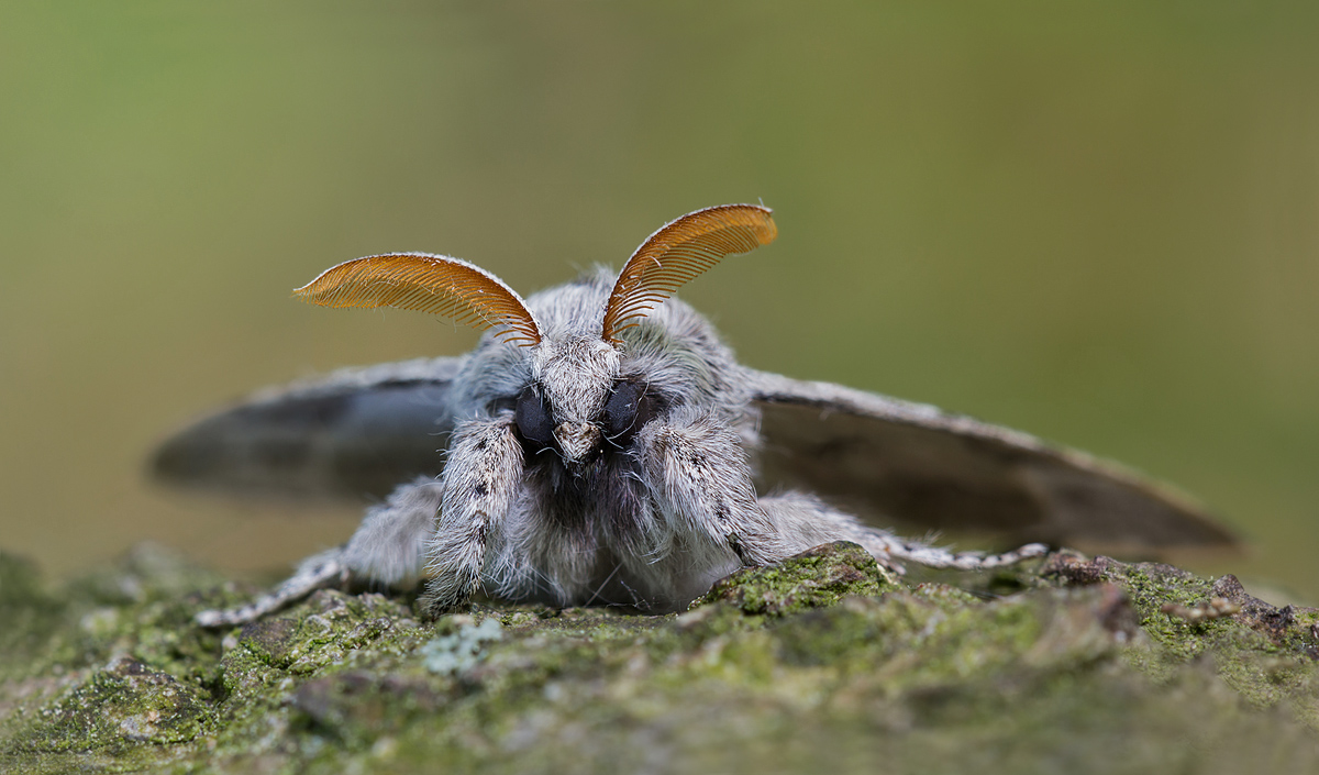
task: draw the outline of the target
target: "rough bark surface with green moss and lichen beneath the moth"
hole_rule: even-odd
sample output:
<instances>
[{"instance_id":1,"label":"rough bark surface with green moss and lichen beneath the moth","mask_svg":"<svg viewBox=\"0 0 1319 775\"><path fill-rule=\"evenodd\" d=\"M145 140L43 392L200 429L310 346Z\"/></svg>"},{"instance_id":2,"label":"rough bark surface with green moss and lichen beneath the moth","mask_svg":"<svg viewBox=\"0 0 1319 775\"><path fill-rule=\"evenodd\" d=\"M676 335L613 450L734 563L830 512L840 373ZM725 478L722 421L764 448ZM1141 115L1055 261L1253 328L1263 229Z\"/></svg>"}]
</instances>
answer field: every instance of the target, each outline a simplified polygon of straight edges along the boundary
<instances>
[{"instance_id":1,"label":"rough bark surface with green moss and lichen beneath the moth","mask_svg":"<svg viewBox=\"0 0 1319 775\"><path fill-rule=\"evenodd\" d=\"M832 544L679 616L321 592L207 631L252 588L0 556L0 770L1319 771L1314 609L1071 554L917 581Z\"/></svg>"}]
</instances>

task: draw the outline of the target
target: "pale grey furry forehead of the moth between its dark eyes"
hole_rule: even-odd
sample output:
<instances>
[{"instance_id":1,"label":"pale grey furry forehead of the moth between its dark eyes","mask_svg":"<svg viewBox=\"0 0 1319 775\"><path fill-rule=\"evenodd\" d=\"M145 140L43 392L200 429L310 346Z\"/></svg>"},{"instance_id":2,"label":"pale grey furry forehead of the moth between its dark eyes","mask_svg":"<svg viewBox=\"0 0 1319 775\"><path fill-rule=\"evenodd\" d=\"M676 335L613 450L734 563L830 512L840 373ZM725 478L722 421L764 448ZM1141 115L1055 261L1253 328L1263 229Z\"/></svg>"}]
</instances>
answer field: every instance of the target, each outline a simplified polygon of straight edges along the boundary
<instances>
[{"instance_id":1,"label":"pale grey furry forehead of the moth between its dark eyes","mask_svg":"<svg viewBox=\"0 0 1319 775\"><path fill-rule=\"evenodd\" d=\"M621 355L599 336L545 339L532 355L532 378L561 422L599 416L619 377Z\"/></svg>"}]
</instances>

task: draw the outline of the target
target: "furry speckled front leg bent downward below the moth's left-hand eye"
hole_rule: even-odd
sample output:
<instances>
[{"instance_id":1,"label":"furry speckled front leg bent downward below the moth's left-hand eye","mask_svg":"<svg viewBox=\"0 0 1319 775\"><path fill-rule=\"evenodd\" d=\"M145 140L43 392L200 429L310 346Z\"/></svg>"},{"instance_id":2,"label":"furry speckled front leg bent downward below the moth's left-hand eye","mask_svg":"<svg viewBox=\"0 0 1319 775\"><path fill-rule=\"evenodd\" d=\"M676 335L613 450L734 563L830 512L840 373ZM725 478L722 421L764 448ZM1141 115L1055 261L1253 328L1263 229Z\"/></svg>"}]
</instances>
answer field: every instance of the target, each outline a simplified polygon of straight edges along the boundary
<instances>
[{"instance_id":1,"label":"furry speckled front leg bent downward below the moth's left-hand eye","mask_svg":"<svg viewBox=\"0 0 1319 775\"><path fill-rule=\"evenodd\" d=\"M480 587L487 539L504 527L521 481L522 443L513 413L454 430L439 523L426 548L430 581L422 602L430 616L467 604Z\"/></svg>"}]
</instances>

